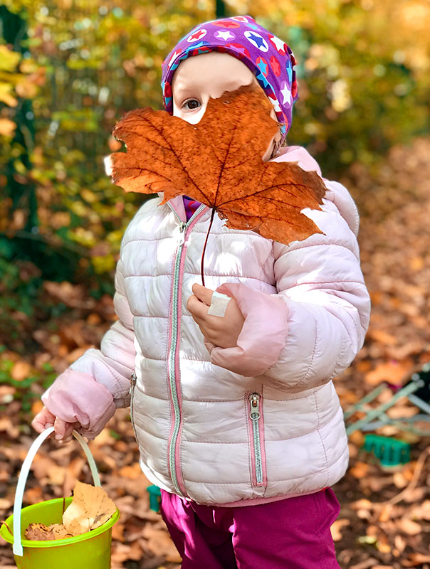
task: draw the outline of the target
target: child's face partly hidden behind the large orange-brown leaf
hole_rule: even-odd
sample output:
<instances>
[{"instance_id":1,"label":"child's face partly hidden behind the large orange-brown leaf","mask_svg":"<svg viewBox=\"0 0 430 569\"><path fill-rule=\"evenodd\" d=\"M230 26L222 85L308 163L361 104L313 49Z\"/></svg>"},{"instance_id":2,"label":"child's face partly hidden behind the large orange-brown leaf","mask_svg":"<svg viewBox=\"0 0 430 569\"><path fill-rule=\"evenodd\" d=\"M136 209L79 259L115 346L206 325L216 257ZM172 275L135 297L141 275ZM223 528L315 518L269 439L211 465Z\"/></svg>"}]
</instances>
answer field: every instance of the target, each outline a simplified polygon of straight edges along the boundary
<instances>
[{"instance_id":1,"label":"child's face partly hidden behind the large orange-brown leaf","mask_svg":"<svg viewBox=\"0 0 430 569\"><path fill-rule=\"evenodd\" d=\"M228 53L211 51L194 55L183 60L174 73L173 115L196 124L206 111L209 97L217 99L224 91L235 91L253 82L258 85L252 71ZM276 120L274 110L271 117ZM278 139L278 134L263 154L263 161L270 158L275 139Z\"/></svg>"}]
</instances>

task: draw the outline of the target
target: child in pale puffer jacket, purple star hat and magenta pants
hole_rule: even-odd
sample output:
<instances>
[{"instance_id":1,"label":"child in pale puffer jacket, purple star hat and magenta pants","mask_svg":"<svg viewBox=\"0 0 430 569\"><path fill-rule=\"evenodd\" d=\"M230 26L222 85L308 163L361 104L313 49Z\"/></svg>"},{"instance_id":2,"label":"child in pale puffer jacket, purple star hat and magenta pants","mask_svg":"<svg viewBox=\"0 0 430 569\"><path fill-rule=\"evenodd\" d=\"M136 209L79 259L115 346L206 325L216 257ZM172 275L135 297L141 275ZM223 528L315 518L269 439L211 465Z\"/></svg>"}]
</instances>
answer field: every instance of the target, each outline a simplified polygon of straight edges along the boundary
<instances>
[{"instance_id":1,"label":"child in pale puffer jacket, purple star hat and magenta pants","mask_svg":"<svg viewBox=\"0 0 430 569\"><path fill-rule=\"evenodd\" d=\"M206 22L164 61L164 103L196 123L209 97L256 80L280 124L263 159L320 174L305 149L276 152L297 99L294 63L249 16ZM73 428L92 438L130 404L184 569L339 567L329 486L348 453L332 379L363 344L369 297L357 209L342 185L325 184L322 211L304 211L323 233L288 246L215 216L207 287L198 281L211 210L182 196L147 201L122 240L119 320L57 378L33 420L58 439ZM231 297L224 317L211 314L215 289Z\"/></svg>"}]
</instances>

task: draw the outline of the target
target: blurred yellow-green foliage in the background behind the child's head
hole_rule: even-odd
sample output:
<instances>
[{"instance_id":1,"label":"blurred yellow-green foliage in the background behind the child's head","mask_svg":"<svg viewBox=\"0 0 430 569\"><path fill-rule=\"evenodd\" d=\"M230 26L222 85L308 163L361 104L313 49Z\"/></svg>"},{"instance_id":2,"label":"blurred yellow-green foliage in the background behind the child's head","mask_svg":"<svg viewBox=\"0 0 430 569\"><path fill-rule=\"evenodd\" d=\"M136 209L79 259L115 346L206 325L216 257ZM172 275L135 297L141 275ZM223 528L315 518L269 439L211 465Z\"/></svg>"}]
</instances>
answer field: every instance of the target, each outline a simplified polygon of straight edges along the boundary
<instances>
[{"instance_id":1,"label":"blurred yellow-green foliage in the background behind the child's head","mask_svg":"<svg viewBox=\"0 0 430 569\"><path fill-rule=\"evenodd\" d=\"M0 334L22 334L46 280L112 292L123 230L144 196L112 185L103 157L135 107L162 107L161 63L220 1L4 0L0 6ZM229 0L293 48L300 100L289 144L326 176L372 166L429 132L430 4ZM45 311L48 319L51 312ZM6 341L6 340L5 340Z\"/></svg>"}]
</instances>

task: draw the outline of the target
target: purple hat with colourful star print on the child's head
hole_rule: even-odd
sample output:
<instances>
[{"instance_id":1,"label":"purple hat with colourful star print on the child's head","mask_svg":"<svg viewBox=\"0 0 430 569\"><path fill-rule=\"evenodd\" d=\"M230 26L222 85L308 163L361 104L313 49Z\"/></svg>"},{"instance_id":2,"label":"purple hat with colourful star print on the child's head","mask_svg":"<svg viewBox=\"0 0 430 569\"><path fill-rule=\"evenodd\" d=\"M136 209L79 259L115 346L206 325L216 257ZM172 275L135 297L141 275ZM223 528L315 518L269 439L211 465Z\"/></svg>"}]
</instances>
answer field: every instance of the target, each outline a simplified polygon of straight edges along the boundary
<instances>
[{"instance_id":1,"label":"purple hat with colourful star print on the child's head","mask_svg":"<svg viewBox=\"0 0 430 569\"><path fill-rule=\"evenodd\" d=\"M162 63L164 107L171 115L172 77L182 60L192 55L221 51L241 60L256 75L273 105L284 138L298 100L295 59L285 42L258 25L251 16L234 16L204 22L177 43Z\"/></svg>"}]
</instances>

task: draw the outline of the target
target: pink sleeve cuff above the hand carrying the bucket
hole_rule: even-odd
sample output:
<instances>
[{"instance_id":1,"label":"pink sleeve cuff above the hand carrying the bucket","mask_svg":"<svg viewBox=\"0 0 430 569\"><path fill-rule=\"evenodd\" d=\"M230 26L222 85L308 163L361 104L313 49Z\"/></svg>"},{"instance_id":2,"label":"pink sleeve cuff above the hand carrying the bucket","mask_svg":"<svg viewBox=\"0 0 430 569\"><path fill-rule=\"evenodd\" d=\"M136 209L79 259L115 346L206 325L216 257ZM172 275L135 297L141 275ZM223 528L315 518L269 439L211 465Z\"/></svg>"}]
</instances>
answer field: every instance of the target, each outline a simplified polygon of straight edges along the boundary
<instances>
[{"instance_id":1,"label":"pink sleeve cuff above the hand carrying the bucket","mask_svg":"<svg viewBox=\"0 0 430 569\"><path fill-rule=\"evenodd\" d=\"M46 408L67 422L79 422L80 432L94 438L115 413L113 396L88 373L66 370L42 395Z\"/></svg>"}]
</instances>

